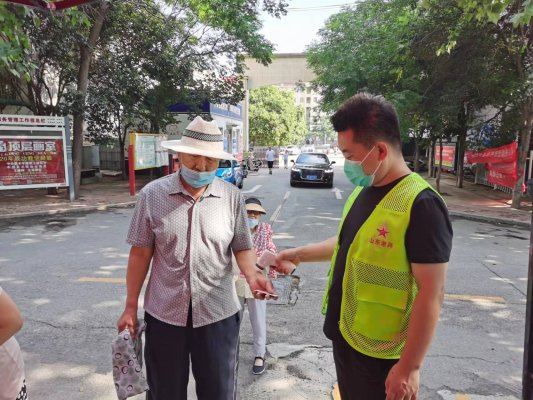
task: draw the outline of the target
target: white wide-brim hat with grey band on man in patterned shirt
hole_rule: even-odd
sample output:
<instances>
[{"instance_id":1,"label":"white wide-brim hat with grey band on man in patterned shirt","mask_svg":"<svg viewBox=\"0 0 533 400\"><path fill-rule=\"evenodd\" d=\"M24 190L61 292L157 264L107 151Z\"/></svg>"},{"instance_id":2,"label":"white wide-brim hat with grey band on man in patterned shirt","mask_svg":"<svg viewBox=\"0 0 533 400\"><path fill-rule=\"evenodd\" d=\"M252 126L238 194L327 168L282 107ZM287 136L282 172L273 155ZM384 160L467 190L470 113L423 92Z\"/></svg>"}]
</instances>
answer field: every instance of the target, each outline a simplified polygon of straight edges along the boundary
<instances>
[{"instance_id":1,"label":"white wide-brim hat with grey band on man in patterned shirt","mask_svg":"<svg viewBox=\"0 0 533 400\"><path fill-rule=\"evenodd\" d=\"M165 140L161 142L161 146L177 153L236 160L230 153L224 151L224 137L217 123L205 121L200 116L185 128L181 140Z\"/></svg>"}]
</instances>

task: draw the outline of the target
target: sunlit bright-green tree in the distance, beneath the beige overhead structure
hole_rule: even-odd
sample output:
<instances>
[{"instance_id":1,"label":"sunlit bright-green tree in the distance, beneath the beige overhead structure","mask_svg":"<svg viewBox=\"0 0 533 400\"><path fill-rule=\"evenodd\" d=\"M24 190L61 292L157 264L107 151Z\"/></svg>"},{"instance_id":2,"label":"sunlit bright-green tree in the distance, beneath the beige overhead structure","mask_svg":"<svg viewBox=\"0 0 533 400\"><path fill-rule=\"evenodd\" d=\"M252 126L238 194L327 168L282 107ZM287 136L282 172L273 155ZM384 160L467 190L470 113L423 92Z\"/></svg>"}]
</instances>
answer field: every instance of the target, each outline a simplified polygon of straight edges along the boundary
<instances>
[{"instance_id":1,"label":"sunlit bright-green tree in the distance, beneath the beige overhead structure","mask_svg":"<svg viewBox=\"0 0 533 400\"><path fill-rule=\"evenodd\" d=\"M250 141L255 145L283 146L305 137L304 109L294 93L275 86L250 91Z\"/></svg>"}]
</instances>

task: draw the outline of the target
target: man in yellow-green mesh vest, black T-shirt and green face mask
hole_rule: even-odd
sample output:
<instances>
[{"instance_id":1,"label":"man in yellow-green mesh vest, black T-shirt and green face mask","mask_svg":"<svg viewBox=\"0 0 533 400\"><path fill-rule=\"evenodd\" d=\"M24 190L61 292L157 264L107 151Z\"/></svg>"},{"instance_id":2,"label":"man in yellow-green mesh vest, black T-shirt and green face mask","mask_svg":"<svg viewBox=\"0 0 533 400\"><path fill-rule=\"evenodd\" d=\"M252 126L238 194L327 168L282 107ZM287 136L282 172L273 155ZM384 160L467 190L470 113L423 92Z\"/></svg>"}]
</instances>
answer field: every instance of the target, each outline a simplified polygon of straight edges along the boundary
<instances>
[{"instance_id":1,"label":"man in yellow-green mesh vest, black T-shirt and green face mask","mask_svg":"<svg viewBox=\"0 0 533 400\"><path fill-rule=\"evenodd\" d=\"M322 311L343 400L415 399L444 295L448 211L407 168L383 97L359 93L331 121L356 188L338 234L280 252L277 270L331 259Z\"/></svg>"}]
</instances>

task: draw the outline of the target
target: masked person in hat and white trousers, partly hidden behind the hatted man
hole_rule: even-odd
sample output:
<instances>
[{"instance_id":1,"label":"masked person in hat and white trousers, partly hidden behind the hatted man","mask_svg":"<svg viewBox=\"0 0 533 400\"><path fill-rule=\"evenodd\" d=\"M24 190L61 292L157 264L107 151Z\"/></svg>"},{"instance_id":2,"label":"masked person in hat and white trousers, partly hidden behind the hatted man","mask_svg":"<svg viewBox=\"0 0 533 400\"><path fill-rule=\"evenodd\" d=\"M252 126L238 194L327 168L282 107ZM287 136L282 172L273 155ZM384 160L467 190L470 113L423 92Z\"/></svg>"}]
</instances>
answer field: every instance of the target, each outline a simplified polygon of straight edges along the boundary
<instances>
[{"instance_id":1,"label":"masked person in hat and white trousers, partly hidden behind the hatted man","mask_svg":"<svg viewBox=\"0 0 533 400\"><path fill-rule=\"evenodd\" d=\"M246 212L248 214L248 227L252 234L253 248L257 257L265 251L276 253L276 245L272 240L272 226L266 222L261 222L261 216L266 214L261 201L256 197L246 199ZM276 272L273 269L265 268L265 273L268 273L271 278L276 277ZM250 315L250 323L252 324L252 333L254 338L254 362L252 365L252 373L260 375L265 371L265 353L266 353L266 300L256 299L253 296L245 276L241 272L235 281L235 289L237 296L244 312L244 306L248 306L248 313Z\"/></svg>"}]
</instances>

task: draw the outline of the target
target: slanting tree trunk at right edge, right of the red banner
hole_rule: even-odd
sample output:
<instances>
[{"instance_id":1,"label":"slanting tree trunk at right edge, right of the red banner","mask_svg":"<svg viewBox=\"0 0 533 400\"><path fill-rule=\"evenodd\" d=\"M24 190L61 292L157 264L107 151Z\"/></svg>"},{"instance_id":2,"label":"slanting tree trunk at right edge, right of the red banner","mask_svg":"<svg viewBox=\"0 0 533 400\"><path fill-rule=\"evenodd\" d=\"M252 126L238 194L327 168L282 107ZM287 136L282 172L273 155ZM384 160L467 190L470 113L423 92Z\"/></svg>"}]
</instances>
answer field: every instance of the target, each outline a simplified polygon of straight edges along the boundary
<instances>
[{"instance_id":1,"label":"slanting tree trunk at right edge, right of the red banner","mask_svg":"<svg viewBox=\"0 0 533 400\"><path fill-rule=\"evenodd\" d=\"M527 99L522 109L522 120L524 121L518 136L518 160L516 162L516 183L513 188L512 208L520 208L522 198L522 186L525 179L526 158L529 153L531 141L531 128L533 126L533 97ZM533 160L529 160L533 162ZM529 177L532 178L531 176Z\"/></svg>"}]
</instances>

